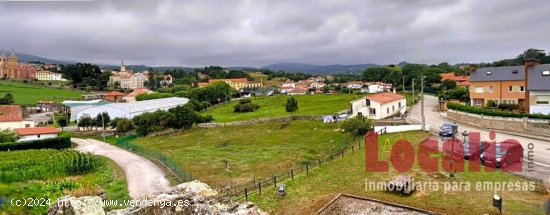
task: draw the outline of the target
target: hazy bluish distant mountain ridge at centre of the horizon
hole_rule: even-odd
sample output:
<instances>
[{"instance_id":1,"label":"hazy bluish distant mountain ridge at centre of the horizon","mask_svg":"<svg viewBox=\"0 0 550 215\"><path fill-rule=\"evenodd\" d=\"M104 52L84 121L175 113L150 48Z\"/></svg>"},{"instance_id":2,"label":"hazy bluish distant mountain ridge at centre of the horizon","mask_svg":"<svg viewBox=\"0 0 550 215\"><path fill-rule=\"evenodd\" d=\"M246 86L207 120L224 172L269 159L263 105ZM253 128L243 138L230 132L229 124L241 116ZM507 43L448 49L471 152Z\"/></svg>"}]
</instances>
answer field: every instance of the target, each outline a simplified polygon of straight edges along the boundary
<instances>
[{"instance_id":1,"label":"hazy bluish distant mountain ridge at centre of the horizon","mask_svg":"<svg viewBox=\"0 0 550 215\"><path fill-rule=\"evenodd\" d=\"M262 67L262 69L269 69L272 71L286 71L286 72L303 72L311 74L336 74L336 73L360 73L365 69L370 67L377 67L380 65L377 64L355 64L355 65L343 65L343 64L332 64L332 65L311 65L303 63L276 63L270 64Z\"/></svg>"}]
</instances>

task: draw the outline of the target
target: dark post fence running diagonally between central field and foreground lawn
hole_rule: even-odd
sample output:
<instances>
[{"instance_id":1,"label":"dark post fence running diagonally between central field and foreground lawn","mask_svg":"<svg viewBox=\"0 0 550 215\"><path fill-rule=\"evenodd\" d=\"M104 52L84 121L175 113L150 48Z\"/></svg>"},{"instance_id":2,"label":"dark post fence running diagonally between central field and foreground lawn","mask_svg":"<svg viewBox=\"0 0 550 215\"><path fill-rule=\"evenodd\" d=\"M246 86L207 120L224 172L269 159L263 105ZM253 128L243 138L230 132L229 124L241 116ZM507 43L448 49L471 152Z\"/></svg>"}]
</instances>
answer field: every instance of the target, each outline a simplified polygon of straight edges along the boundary
<instances>
[{"instance_id":1,"label":"dark post fence running diagonally between central field and foreground lawn","mask_svg":"<svg viewBox=\"0 0 550 215\"><path fill-rule=\"evenodd\" d=\"M382 129L377 133L385 134L386 130ZM382 150L389 151L391 149L390 144L400 138L402 138L401 133L397 133L391 137L386 138L384 141L384 144L382 145ZM231 188L226 188L225 190L222 190L223 192L222 195L224 195L225 197L233 198L234 200L245 199L245 201L248 201L248 197L251 194L261 195L262 192L265 192L265 190L270 187L276 188L277 183L283 182L288 179L294 180L294 178L300 174L308 175L309 172L316 167L321 167L323 164L332 162L339 158L343 158L346 155L350 155L351 153L354 153L355 151L360 151L362 149L361 145L362 145L362 142L358 141L357 143L352 143L335 153L330 153L330 155L318 158L317 160L308 160L308 161L300 162L299 165L288 169L286 172L275 174L275 175L272 175L271 177L264 178L264 179L254 178L252 181L245 183L249 185L244 185L240 187L233 186Z\"/></svg>"}]
</instances>

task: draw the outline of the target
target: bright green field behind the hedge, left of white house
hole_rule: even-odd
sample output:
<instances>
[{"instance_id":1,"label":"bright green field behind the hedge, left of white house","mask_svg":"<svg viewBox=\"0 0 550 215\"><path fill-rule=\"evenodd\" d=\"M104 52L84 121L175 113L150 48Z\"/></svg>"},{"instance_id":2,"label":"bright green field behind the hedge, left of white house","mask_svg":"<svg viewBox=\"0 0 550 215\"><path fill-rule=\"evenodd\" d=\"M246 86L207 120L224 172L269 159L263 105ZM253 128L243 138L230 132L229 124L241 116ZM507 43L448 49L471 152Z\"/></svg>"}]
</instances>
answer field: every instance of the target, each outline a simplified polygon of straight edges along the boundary
<instances>
[{"instance_id":1,"label":"bright green field behind the hedge, left of white house","mask_svg":"<svg viewBox=\"0 0 550 215\"><path fill-rule=\"evenodd\" d=\"M297 115L326 115L351 107L350 102L363 95L307 95L294 96L298 100ZM260 105L260 109L249 113L233 113L233 106L238 101L222 104L209 108L206 114L214 117L214 122L234 122L257 118L290 116L285 111L285 103L290 96L256 97L252 99L254 104Z\"/></svg>"}]
</instances>

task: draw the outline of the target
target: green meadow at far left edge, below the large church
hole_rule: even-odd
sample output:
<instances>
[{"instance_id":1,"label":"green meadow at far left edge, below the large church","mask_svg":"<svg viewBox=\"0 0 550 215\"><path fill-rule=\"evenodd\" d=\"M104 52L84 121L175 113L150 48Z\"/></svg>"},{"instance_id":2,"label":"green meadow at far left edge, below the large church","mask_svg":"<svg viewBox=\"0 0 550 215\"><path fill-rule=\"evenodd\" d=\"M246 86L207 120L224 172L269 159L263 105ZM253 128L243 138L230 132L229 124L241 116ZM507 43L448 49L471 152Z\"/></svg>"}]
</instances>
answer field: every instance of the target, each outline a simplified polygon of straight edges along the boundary
<instances>
[{"instance_id":1,"label":"green meadow at far left edge, below the large church","mask_svg":"<svg viewBox=\"0 0 550 215\"><path fill-rule=\"evenodd\" d=\"M11 93L15 98L15 104L33 105L37 101L58 101L80 98L81 93L66 89L40 87L15 81L0 81L0 97Z\"/></svg>"}]
</instances>

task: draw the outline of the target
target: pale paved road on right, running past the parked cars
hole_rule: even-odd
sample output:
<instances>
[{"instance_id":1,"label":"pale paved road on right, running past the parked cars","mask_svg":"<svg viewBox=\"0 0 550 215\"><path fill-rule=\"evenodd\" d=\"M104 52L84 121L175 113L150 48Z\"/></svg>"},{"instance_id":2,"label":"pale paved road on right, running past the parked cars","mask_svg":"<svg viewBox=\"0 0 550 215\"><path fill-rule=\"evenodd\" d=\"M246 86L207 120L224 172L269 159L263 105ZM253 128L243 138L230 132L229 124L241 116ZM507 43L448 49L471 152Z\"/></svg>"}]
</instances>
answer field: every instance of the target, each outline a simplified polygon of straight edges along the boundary
<instances>
[{"instance_id":1,"label":"pale paved road on right, running past the parked cars","mask_svg":"<svg viewBox=\"0 0 550 215\"><path fill-rule=\"evenodd\" d=\"M439 126L441 126L443 123L447 122L447 123L452 123L454 122L453 120L450 120L448 118L446 118L446 115L445 114L440 114L439 111L438 111L438 106L439 106L439 102L438 102L438 99L437 97L435 96L430 96L430 95L425 95L424 96L425 100L424 100L424 115L426 117L426 123L430 125L430 130L432 131L432 133L435 133L437 131L437 129L439 128ZM409 112L409 117L415 119L415 120L418 120L420 121L422 118L421 118L421 107L420 107L420 102L413 106ZM480 132L480 135L481 135L481 139L482 140L489 140L489 131L488 129L484 129L484 128L479 128L479 127L475 127L475 126L471 126L471 125L467 125L467 124L463 124L463 123L460 123L460 122L456 122L457 125L458 125L458 129L459 129L459 132L462 132L464 130L467 130L468 132L472 132L472 131L476 131L476 132ZM434 137L434 138L437 138L437 137ZM522 173L522 175L525 175L525 176L530 176L530 177L535 177L535 178L539 178L539 179L542 179L542 180L547 180L549 181L550 180L550 138L546 138L548 140L542 140L542 139L533 139L533 138L528 138L528 137L523 137L523 136L518 136L518 135L513 135L513 134L506 134L506 133L499 133L497 132L497 135L496 135L496 141L503 141L503 140L506 140L506 139L515 139L517 141L519 141L522 145L523 145L523 148L525 150L525 161L523 162L524 163L524 172ZM543 138L544 139L544 138ZM529 151L528 150L528 144L529 143L533 143L534 145L534 148L533 148L533 161L534 161L534 168L532 168L531 170L533 170L533 172L527 172L525 170L527 170L527 152Z\"/></svg>"}]
</instances>

